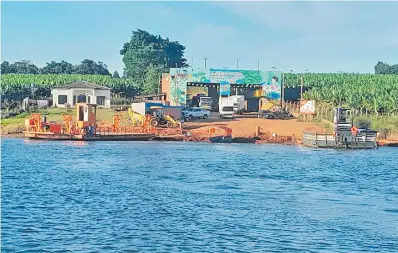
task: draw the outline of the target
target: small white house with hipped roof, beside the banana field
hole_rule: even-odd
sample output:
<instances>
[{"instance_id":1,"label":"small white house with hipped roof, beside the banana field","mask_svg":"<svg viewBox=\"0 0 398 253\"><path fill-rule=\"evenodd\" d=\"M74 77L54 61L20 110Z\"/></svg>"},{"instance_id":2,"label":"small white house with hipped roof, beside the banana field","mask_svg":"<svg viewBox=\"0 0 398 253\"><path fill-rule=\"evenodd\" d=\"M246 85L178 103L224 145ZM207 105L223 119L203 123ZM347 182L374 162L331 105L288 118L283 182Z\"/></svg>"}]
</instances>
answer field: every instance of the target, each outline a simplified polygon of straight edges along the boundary
<instances>
[{"instance_id":1,"label":"small white house with hipped roof, beside the banana field","mask_svg":"<svg viewBox=\"0 0 398 253\"><path fill-rule=\"evenodd\" d=\"M94 83L81 81L57 86L51 90L51 94L53 105L57 107L72 107L76 103L111 107L111 89Z\"/></svg>"}]
</instances>

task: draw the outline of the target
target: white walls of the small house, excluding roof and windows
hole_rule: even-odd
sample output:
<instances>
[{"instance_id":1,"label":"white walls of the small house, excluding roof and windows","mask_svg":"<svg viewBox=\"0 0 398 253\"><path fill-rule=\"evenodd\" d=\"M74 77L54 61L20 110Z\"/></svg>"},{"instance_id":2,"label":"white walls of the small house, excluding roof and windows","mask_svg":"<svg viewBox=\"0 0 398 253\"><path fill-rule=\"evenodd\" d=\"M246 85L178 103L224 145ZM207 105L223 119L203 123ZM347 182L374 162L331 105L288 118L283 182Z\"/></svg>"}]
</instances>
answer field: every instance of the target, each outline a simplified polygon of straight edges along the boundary
<instances>
[{"instance_id":1,"label":"white walls of the small house, excluding roof and windows","mask_svg":"<svg viewBox=\"0 0 398 253\"><path fill-rule=\"evenodd\" d=\"M66 95L67 96L67 104L73 107L73 95L85 94L86 96L90 96L90 103L97 104L97 96L105 97L105 105L100 105L100 107L111 107L111 91L110 90L93 90L93 89L60 89L56 88L51 90L51 94L53 95L53 104L57 107L67 107L66 104L59 104L58 95ZM87 98L88 100L88 98ZM77 101L76 101L77 102ZM87 101L88 102L88 101Z\"/></svg>"}]
</instances>

